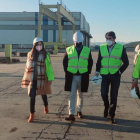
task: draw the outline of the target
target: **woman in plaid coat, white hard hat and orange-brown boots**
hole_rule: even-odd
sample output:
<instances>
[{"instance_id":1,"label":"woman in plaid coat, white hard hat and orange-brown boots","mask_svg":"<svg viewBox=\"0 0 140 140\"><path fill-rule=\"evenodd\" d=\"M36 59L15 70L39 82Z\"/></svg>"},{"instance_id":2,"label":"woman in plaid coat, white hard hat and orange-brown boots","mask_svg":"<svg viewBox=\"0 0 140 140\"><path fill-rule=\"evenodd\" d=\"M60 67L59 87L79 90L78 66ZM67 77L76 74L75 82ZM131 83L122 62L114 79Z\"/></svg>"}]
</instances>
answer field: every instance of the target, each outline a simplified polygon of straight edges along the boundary
<instances>
[{"instance_id":1,"label":"woman in plaid coat, white hard hat and orange-brown boots","mask_svg":"<svg viewBox=\"0 0 140 140\"><path fill-rule=\"evenodd\" d=\"M33 48L27 56L25 72L21 83L22 88L28 88L28 95L30 97L30 116L28 122L32 122L35 118L36 95L42 96L44 113L48 113L49 109L46 94L51 93L53 80L54 74L49 53L47 53L44 48L43 40L36 37L33 40Z\"/></svg>"}]
</instances>

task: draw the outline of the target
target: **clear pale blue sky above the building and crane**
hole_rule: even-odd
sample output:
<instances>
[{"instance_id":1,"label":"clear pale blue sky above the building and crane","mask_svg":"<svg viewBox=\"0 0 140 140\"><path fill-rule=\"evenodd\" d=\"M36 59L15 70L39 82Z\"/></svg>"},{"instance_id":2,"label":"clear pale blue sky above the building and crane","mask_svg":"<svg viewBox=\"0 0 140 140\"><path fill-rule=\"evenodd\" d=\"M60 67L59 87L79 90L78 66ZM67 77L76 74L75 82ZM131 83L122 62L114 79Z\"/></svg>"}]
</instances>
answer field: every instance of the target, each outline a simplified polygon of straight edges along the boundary
<instances>
[{"instance_id":1,"label":"clear pale blue sky above the building and crane","mask_svg":"<svg viewBox=\"0 0 140 140\"><path fill-rule=\"evenodd\" d=\"M60 0L41 0L56 4ZM140 40L140 0L62 0L73 12L82 12L90 24L91 42L105 41L114 31L117 41ZM0 0L0 12L38 12L38 0Z\"/></svg>"}]
</instances>

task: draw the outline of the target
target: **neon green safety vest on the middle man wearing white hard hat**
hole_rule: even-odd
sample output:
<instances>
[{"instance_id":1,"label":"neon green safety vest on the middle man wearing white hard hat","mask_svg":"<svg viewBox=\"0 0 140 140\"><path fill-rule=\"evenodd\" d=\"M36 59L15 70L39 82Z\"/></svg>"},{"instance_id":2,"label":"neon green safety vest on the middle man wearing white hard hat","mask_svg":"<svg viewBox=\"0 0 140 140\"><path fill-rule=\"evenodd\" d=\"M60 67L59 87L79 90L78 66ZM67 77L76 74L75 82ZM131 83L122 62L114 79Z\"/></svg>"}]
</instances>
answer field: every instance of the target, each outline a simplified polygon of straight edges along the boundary
<instances>
[{"instance_id":1,"label":"neon green safety vest on the middle man wearing white hard hat","mask_svg":"<svg viewBox=\"0 0 140 140\"><path fill-rule=\"evenodd\" d=\"M67 71L73 74L76 74L78 71L81 74L88 71L88 58L90 54L90 49L88 47L83 46L79 58L74 45L68 47L66 51L68 54Z\"/></svg>"}]
</instances>

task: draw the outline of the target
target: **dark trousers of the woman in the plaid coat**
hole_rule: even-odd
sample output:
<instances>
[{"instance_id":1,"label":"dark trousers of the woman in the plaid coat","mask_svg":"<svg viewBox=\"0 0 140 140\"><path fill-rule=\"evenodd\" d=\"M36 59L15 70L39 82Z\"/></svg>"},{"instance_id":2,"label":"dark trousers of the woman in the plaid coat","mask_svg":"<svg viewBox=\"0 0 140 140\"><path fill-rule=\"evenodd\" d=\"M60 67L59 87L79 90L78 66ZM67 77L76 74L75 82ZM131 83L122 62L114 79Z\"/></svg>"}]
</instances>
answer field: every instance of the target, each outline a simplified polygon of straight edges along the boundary
<instances>
[{"instance_id":1,"label":"dark trousers of the woman in the plaid coat","mask_svg":"<svg viewBox=\"0 0 140 140\"><path fill-rule=\"evenodd\" d=\"M30 113L35 112L35 97L36 97L36 90L37 90L37 81L33 81L33 86L30 90ZM44 106L48 106L48 99L47 95L41 95Z\"/></svg>"}]
</instances>

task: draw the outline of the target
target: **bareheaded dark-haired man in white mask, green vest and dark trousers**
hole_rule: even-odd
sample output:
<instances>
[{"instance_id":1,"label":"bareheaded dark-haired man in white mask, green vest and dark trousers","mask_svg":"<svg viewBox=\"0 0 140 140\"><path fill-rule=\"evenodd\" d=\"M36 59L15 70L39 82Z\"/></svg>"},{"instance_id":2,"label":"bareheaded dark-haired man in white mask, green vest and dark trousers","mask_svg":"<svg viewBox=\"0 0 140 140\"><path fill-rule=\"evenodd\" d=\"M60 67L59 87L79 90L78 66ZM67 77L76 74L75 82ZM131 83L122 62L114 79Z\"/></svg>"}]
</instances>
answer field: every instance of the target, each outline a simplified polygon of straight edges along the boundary
<instances>
[{"instance_id":1,"label":"bareheaded dark-haired man in white mask, green vest and dark trousers","mask_svg":"<svg viewBox=\"0 0 140 140\"><path fill-rule=\"evenodd\" d=\"M110 117L110 121L115 123L121 74L128 67L129 60L124 46L115 42L116 35L113 31L107 32L105 38L106 43L102 44L99 49L95 75L101 74L102 76L101 96L105 106L104 117ZM110 105L108 100L109 85L111 85Z\"/></svg>"}]
</instances>

